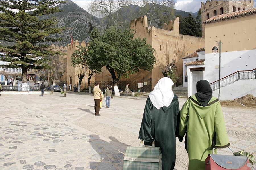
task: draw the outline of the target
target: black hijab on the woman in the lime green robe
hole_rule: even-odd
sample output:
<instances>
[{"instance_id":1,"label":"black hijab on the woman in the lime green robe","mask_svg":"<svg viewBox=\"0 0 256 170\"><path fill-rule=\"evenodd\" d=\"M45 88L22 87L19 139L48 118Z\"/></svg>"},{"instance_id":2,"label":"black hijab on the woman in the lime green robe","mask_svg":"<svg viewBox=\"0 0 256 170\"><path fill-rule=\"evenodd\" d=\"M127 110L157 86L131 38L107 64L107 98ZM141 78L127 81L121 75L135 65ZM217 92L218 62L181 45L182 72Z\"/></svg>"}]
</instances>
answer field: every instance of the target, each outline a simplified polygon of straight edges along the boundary
<instances>
[{"instance_id":1,"label":"black hijab on the woman in the lime green robe","mask_svg":"<svg viewBox=\"0 0 256 170\"><path fill-rule=\"evenodd\" d=\"M195 94L197 101L206 106L212 98L212 89L207 80L197 81L197 93Z\"/></svg>"}]
</instances>

